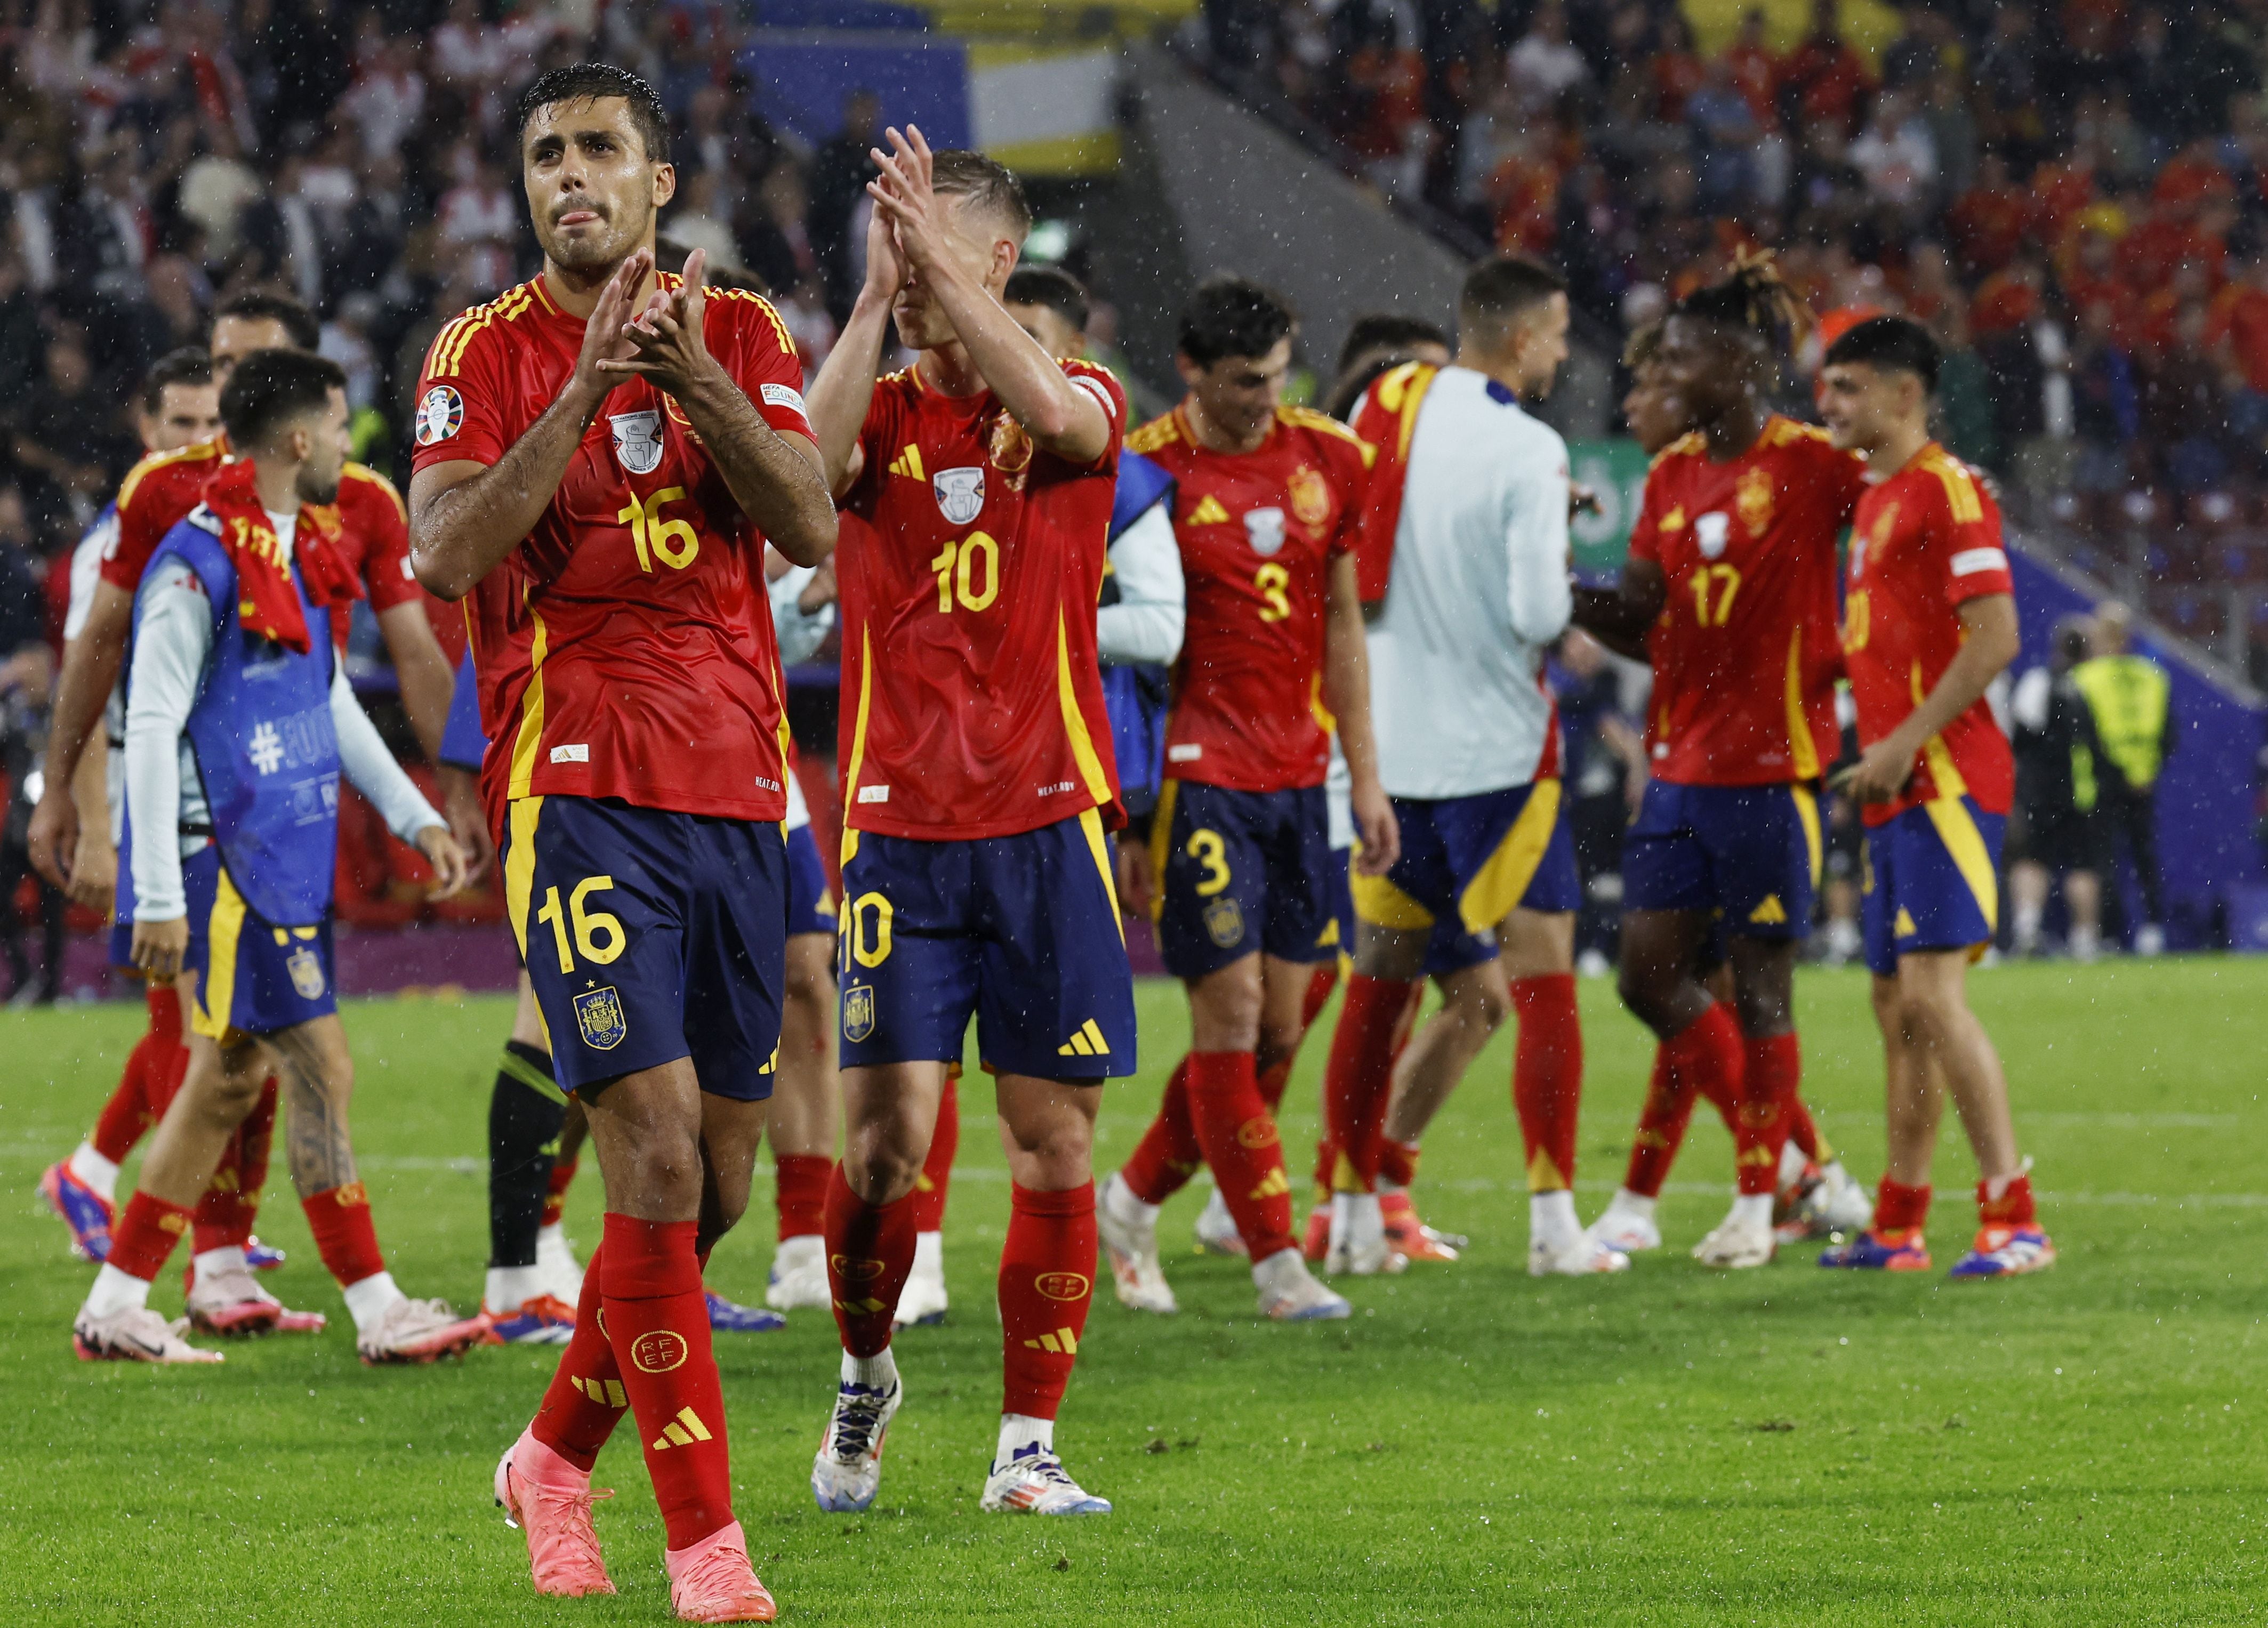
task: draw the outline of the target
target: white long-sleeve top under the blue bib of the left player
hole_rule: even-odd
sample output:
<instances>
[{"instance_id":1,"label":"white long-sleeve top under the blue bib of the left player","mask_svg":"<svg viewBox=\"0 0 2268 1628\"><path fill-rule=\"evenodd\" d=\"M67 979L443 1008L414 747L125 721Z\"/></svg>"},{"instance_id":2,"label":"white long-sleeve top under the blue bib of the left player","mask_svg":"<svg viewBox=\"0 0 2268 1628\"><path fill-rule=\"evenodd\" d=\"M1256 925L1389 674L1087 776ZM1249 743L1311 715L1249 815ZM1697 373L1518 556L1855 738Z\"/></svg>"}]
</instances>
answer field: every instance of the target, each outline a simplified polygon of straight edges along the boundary
<instances>
[{"instance_id":1,"label":"white long-sleeve top under the blue bib of the left player","mask_svg":"<svg viewBox=\"0 0 2268 1628\"><path fill-rule=\"evenodd\" d=\"M270 512L268 524L290 560L299 517ZM213 653L213 612L204 583L181 560L168 560L145 580L141 599L125 751L127 803L134 809L134 921L179 921L188 914L181 859L211 841L181 834L181 825L211 823L184 730L197 703L204 660ZM447 825L386 751L363 703L354 698L345 662L331 662L331 728L338 732L340 769L395 837L413 841L426 825Z\"/></svg>"}]
</instances>

